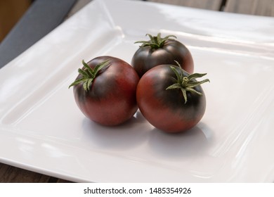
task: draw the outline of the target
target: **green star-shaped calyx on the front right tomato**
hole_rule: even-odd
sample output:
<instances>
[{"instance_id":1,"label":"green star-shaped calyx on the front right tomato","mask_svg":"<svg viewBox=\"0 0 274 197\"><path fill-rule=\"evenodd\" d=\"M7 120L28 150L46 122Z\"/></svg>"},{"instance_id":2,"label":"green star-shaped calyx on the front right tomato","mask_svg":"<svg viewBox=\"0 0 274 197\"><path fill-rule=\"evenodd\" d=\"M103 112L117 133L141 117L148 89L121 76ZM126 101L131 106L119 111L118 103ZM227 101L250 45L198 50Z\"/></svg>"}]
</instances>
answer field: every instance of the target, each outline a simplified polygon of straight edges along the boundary
<instances>
[{"instance_id":1,"label":"green star-shaped calyx on the front right tomato","mask_svg":"<svg viewBox=\"0 0 274 197\"><path fill-rule=\"evenodd\" d=\"M183 70L180 65L178 66L181 70ZM203 84L204 82L209 82L209 80L202 80L200 82L197 82L195 79L204 77L204 75L207 75L207 73L200 74L200 73L194 73L192 75L184 76L183 72L178 72L174 66L170 66L171 70L176 75L176 83L172 84L171 86L167 87L167 89L181 89L183 98L185 98L185 103L188 101L187 92L193 92L195 94L199 94L202 96L202 93L199 91L196 91L194 87L199 86L200 84Z\"/></svg>"}]
</instances>

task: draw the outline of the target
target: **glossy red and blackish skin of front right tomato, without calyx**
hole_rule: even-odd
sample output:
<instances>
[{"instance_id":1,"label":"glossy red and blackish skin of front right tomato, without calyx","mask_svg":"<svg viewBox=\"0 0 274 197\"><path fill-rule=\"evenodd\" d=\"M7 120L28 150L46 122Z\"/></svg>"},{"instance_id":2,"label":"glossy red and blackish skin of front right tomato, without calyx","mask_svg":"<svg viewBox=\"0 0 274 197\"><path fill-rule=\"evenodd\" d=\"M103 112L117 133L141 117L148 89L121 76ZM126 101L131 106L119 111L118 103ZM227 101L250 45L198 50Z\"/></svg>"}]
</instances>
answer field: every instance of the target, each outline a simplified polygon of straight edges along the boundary
<instances>
[{"instance_id":1,"label":"glossy red and blackish skin of front right tomato, without calyx","mask_svg":"<svg viewBox=\"0 0 274 197\"><path fill-rule=\"evenodd\" d=\"M202 87L195 87L202 96L188 92L186 103L180 89L167 89L176 82L175 78L170 65L158 65L143 75L136 90L141 113L151 125L164 132L183 132L194 127L206 109Z\"/></svg>"}]
</instances>

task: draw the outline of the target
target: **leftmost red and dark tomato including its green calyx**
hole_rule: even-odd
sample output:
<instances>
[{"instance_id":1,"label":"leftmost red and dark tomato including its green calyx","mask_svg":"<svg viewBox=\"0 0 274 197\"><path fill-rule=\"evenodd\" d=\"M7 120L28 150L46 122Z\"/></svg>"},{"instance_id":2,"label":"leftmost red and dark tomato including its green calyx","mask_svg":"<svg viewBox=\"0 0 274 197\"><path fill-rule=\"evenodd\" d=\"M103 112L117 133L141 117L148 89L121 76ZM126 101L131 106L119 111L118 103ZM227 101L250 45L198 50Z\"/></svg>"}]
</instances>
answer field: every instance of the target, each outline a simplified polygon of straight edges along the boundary
<instances>
[{"instance_id":1,"label":"leftmost red and dark tomato including its green calyx","mask_svg":"<svg viewBox=\"0 0 274 197\"><path fill-rule=\"evenodd\" d=\"M70 85L81 112L100 125L119 125L129 120L138 109L136 71L112 56L100 56L83 64Z\"/></svg>"}]
</instances>

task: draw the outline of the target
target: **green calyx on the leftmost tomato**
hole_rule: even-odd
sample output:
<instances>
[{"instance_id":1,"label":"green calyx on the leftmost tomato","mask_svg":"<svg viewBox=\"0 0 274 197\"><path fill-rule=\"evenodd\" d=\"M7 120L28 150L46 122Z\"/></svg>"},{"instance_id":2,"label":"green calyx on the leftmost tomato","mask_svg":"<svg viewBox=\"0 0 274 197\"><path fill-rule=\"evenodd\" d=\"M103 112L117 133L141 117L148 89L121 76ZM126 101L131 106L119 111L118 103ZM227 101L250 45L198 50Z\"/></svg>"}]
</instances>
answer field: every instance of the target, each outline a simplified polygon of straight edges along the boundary
<instances>
[{"instance_id":1,"label":"green calyx on the leftmost tomato","mask_svg":"<svg viewBox=\"0 0 274 197\"><path fill-rule=\"evenodd\" d=\"M89 91L93 80L98 76L98 72L105 66L110 65L110 61L103 61L102 63L96 65L96 67L93 69L90 68L89 65L84 62L84 60L81 61L81 63L84 65L84 68L78 69L78 72L81 75L81 77L75 80L72 84L70 84L70 87L82 83L84 90Z\"/></svg>"}]
</instances>

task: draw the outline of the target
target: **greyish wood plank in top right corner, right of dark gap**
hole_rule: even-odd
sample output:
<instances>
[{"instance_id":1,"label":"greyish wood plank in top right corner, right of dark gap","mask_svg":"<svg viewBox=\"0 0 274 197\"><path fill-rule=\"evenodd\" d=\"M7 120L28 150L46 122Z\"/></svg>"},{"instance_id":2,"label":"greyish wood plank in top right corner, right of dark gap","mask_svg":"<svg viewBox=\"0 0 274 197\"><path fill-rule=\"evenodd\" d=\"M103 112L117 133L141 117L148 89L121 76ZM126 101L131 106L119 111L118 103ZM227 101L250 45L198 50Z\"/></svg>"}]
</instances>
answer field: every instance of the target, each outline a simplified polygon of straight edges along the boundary
<instances>
[{"instance_id":1,"label":"greyish wood plank in top right corner, right of dark gap","mask_svg":"<svg viewBox=\"0 0 274 197\"><path fill-rule=\"evenodd\" d=\"M227 0L223 11L274 16L274 0Z\"/></svg>"}]
</instances>

